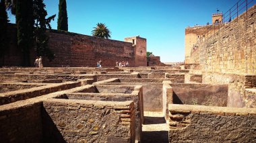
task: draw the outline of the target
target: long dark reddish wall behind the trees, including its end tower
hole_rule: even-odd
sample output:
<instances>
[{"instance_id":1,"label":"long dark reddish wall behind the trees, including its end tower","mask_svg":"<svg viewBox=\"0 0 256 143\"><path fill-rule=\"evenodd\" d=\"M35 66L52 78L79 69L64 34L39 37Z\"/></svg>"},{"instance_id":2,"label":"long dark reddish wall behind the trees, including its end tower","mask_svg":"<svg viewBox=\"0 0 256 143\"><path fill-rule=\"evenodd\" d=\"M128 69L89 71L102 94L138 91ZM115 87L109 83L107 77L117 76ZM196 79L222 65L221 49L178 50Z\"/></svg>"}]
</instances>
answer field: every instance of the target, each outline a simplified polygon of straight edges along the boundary
<instances>
[{"instance_id":1,"label":"long dark reddish wall behind the trees, including its end tower","mask_svg":"<svg viewBox=\"0 0 256 143\"><path fill-rule=\"evenodd\" d=\"M17 48L17 30L14 24L8 26L9 50L4 59L5 66L22 65L22 51ZM146 66L146 39L134 37L137 44L130 41L106 40L71 32L49 32L49 47L56 58L52 62L43 57L44 66L115 66L117 61L128 61L129 66ZM34 49L30 50L30 63L34 65Z\"/></svg>"}]
</instances>

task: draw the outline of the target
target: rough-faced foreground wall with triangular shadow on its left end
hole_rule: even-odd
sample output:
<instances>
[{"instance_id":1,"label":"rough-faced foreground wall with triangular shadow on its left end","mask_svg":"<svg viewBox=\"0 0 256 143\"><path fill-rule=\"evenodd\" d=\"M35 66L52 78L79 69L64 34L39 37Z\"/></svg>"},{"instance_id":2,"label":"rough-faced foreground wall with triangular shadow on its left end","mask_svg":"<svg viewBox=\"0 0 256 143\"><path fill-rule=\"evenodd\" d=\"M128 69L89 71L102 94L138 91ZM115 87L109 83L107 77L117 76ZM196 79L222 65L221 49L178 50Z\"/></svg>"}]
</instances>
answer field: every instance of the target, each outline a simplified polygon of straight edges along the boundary
<instances>
[{"instance_id":1,"label":"rough-faced foreground wall with triangular shadow on its left end","mask_svg":"<svg viewBox=\"0 0 256 143\"><path fill-rule=\"evenodd\" d=\"M44 142L135 142L133 101L49 99L43 106Z\"/></svg>"}]
</instances>

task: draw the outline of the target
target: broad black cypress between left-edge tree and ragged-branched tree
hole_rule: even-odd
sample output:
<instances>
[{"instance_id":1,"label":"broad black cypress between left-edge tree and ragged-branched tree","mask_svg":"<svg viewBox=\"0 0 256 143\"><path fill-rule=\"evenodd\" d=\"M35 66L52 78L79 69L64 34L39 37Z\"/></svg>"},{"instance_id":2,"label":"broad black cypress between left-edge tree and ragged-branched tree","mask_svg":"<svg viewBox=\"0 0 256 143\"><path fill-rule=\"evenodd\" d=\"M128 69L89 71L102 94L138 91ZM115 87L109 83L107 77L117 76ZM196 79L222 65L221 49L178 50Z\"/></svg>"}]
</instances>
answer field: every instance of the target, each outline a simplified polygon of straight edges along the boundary
<instances>
[{"instance_id":1,"label":"broad black cypress between left-edge tree and ragged-branched tree","mask_svg":"<svg viewBox=\"0 0 256 143\"><path fill-rule=\"evenodd\" d=\"M33 0L16 1L16 24L18 48L22 49L23 64L30 66L30 49L33 46Z\"/></svg>"}]
</instances>

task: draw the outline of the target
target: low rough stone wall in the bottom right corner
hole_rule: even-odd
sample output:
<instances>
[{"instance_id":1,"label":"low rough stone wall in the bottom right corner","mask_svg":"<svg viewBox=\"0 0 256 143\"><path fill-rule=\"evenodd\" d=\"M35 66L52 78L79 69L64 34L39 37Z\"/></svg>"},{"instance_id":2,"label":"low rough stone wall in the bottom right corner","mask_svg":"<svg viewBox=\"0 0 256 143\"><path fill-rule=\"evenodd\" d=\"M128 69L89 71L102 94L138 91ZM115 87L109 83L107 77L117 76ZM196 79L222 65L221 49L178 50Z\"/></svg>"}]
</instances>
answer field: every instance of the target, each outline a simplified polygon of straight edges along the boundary
<instances>
[{"instance_id":1,"label":"low rough stone wall in the bottom right corner","mask_svg":"<svg viewBox=\"0 0 256 143\"><path fill-rule=\"evenodd\" d=\"M256 109L169 104L169 142L256 142Z\"/></svg>"}]
</instances>

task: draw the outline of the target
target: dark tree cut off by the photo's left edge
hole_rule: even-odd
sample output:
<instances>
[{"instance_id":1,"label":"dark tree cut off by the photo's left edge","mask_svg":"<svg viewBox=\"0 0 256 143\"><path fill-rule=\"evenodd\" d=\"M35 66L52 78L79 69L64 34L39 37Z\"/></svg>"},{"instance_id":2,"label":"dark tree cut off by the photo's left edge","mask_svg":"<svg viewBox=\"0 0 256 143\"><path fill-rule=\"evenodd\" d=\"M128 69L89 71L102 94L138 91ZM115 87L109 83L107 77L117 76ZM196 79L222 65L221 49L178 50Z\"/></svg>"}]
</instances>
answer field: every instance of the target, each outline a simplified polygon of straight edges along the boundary
<instances>
[{"instance_id":1,"label":"dark tree cut off by the photo's left edge","mask_svg":"<svg viewBox=\"0 0 256 143\"><path fill-rule=\"evenodd\" d=\"M0 66L4 64L5 51L7 50L7 22L8 16L5 10L5 1L0 1Z\"/></svg>"}]
</instances>

